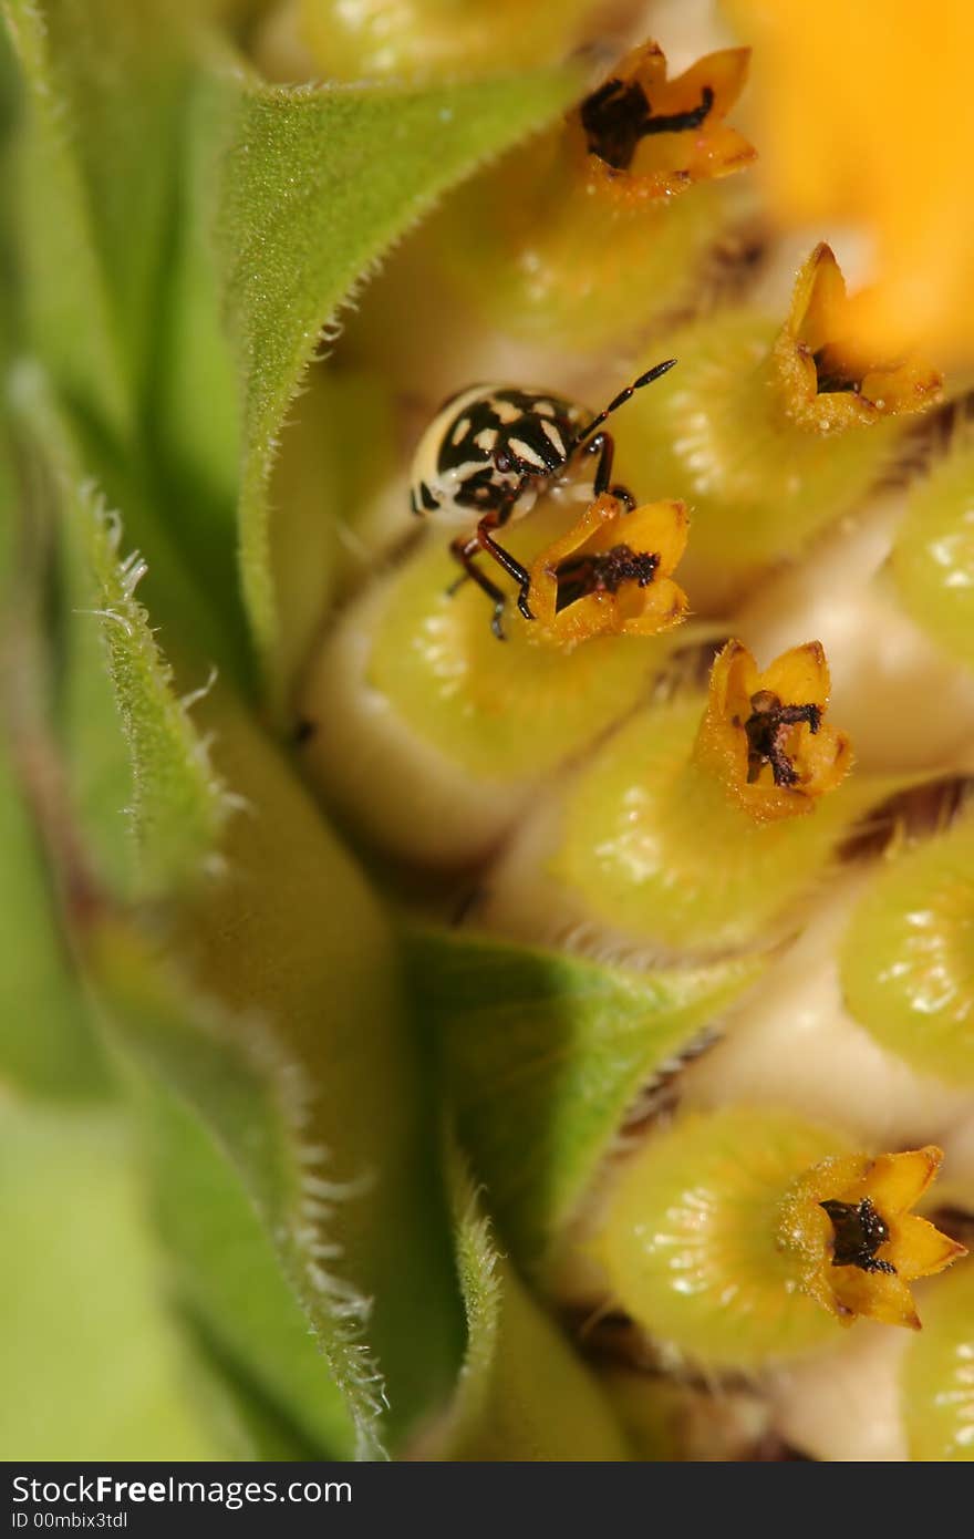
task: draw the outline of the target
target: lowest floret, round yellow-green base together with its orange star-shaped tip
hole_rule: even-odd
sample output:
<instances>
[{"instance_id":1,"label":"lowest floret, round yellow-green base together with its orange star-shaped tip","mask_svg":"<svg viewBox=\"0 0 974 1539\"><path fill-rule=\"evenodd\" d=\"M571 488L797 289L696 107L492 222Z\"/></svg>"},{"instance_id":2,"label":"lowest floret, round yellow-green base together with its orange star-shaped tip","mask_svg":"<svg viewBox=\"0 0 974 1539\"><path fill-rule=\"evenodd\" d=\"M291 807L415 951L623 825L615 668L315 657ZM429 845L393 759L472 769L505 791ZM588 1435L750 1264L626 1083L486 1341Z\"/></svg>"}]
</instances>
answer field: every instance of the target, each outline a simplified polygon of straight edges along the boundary
<instances>
[{"instance_id":1,"label":"lowest floret, round yellow-green base together with its orange star-shaped tip","mask_svg":"<svg viewBox=\"0 0 974 1539\"><path fill-rule=\"evenodd\" d=\"M802 1356L860 1316L917 1328L909 1284L963 1254L909 1213L940 1157L846 1153L771 1108L688 1116L622 1167L591 1250L614 1305L705 1368Z\"/></svg>"}]
</instances>

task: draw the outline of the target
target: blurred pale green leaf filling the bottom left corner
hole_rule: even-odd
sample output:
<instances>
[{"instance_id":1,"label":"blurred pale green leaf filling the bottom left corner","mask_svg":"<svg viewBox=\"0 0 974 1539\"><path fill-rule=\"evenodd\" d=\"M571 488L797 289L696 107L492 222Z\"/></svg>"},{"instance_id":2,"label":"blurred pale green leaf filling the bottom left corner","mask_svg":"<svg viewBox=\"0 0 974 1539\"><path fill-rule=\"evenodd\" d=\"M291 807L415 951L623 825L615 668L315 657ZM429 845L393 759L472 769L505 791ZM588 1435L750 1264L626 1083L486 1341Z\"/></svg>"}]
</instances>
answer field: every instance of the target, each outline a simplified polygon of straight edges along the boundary
<instances>
[{"instance_id":1,"label":"blurred pale green leaf filling the bottom left corner","mask_svg":"<svg viewBox=\"0 0 974 1539\"><path fill-rule=\"evenodd\" d=\"M123 1120L0 1103L5 1459L225 1459L158 1293Z\"/></svg>"}]
</instances>

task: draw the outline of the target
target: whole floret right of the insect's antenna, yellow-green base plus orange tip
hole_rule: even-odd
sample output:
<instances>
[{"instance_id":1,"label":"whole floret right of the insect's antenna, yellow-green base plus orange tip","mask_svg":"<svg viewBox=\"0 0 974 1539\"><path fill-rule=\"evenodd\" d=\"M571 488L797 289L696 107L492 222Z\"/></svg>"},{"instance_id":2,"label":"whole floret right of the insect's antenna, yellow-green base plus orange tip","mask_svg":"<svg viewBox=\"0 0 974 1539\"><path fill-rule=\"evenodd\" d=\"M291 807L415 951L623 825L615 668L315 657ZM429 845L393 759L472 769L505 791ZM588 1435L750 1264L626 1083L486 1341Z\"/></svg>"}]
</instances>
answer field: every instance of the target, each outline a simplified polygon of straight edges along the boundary
<instances>
[{"instance_id":1,"label":"whole floret right of the insect's antenna, yellow-green base plus orange tip","mask_svg":"<svg viewBox=\"0 0 974 1539\"><path fill-rule=\"evenodd\" d=\"M736 308L669 332L672 389L619 417L635 485L691 509L685 573L697 609L726 603L749 573L797 556L852 508L909 414L939 399L934 369L846 354L845 303L836 259L817 246L783 326Z\"/></svg>"}]
</instances>

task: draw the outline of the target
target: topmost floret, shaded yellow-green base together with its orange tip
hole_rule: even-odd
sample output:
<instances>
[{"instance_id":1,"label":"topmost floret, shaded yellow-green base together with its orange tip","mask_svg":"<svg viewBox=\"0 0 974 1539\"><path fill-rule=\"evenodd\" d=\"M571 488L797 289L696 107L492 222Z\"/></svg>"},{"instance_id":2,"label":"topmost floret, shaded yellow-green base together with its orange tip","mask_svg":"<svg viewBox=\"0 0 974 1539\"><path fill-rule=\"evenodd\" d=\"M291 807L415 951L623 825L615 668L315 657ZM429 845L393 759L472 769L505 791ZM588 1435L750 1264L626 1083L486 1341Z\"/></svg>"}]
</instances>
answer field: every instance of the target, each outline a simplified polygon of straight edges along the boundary
<instances>
[{"instance_id":1,"label":"topmost floret, shaded yellow-green base together with its orange tip","mask_svg":"<svg viewBox=\"0 0 974 1539\"><path fill-rule=\"evenodd\" d=\"M668 80L655 43L634 49L560 128L459 192L445 271L502 331L568 351L683 305L732 209L717 183L754 159L725 122L748 58L722 49Z\"/></svg>"}]
</instances>

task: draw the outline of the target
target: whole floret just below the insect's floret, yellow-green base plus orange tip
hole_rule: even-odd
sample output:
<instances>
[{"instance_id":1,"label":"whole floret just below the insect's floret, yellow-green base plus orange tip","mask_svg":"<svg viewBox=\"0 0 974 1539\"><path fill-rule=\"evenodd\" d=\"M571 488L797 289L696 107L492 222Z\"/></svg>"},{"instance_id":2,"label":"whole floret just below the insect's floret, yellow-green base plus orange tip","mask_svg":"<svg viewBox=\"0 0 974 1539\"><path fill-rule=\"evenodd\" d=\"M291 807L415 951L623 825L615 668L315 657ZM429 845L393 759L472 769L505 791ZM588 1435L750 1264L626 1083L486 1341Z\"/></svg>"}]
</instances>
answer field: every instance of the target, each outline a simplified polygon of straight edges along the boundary
<instances>
[{"instance_id":1,"label":"whole floret just below the insect's floret, yellow-green base plus orange tip","mask_svg":"<svg viewBox=\"0 0 974 1539\"><path fill-rule=\"evenodd\" d=\"M746 693L728 706L728 663L748 657L740 643L725 649L705 700L643 706L537 810L491 879L491 926L654 959L782 933L877 790L840 783L851 753L823 722L820 651L797 648L765 676L749 659L759 706L769 694L774 711L796 702L797 720L762 714ZM782 696L762 691L762 677ZM776 762L789 783L776 783Z\"/></svg>"}]
</instances>

